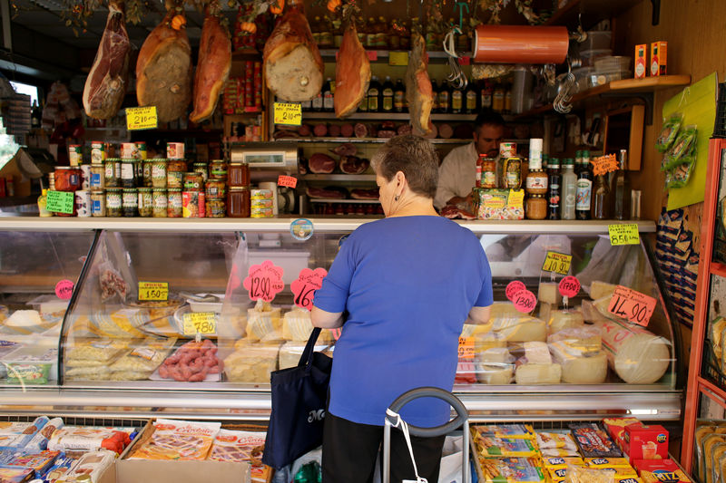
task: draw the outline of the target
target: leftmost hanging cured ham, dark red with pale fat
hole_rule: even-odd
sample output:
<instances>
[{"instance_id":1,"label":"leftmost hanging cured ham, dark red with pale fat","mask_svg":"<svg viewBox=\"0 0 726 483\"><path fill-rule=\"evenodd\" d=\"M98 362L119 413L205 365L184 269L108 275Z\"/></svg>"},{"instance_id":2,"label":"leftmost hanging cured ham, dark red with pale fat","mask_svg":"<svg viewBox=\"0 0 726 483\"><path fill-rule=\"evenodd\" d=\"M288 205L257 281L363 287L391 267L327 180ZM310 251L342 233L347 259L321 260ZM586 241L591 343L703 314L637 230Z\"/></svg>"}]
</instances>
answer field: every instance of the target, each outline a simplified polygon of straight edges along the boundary
<instances>
[{"instance_id":1,"label":"leftmost hanging cured ham, dark red with pale fat","mask_svg":"<svg viewBox=\"0 0 726 483\"><path fill-rule=\"evenodd\" d=\"M83 87L83 109L88 117L111 119L121 109L126 95L130 53L123 2L111 1L106 28Z\"/></svg>"}]
</instances>

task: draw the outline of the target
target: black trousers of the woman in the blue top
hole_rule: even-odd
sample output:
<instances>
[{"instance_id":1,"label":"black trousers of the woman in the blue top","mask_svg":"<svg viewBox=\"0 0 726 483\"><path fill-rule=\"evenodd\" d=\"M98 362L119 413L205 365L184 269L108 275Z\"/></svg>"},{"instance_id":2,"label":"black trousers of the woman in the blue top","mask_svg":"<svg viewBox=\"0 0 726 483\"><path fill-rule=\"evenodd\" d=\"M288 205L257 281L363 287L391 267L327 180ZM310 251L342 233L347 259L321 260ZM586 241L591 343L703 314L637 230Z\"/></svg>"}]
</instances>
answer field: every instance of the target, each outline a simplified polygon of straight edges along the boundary
<instances>
[{"instance_id":1,"label":"black trousers of the woman in the blue top","mask_svg":"<svg viewBox=\"0 0 726 483\"><path fill-rule=\"evenodd\" d=\"M441 449L446 436L411 436L418 475L437 483ZM378 449L383 444L383 426L360 424L325 415L323 431L323 483L370 483L376 467ZM391 482L416 480L411 455L403 432L391 428ZM382 459L381 459L382 466Z\"/></svg>"}]
</instances>

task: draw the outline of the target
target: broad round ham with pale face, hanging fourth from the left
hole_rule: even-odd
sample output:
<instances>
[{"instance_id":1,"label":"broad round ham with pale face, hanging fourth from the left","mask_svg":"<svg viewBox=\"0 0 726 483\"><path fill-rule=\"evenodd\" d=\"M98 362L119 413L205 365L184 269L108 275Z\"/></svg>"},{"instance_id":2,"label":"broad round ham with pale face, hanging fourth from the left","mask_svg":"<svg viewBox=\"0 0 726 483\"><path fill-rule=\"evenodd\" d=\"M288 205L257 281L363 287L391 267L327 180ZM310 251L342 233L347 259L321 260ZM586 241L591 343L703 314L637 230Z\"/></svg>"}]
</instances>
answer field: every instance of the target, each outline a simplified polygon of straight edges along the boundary
<instances>
[{"instance_id":1,"label":"broad round ham with pale face, hanging fourth from the left","mask_svg":"<svg viewBox=\"0 0 726 483\"><path fill-rule=\"evenodd\" d=\"M310 101L323 85L323 59L305 19L302 1L291 2L263 52L267 86L280 99Z\"/></svg>"}]
</instances>

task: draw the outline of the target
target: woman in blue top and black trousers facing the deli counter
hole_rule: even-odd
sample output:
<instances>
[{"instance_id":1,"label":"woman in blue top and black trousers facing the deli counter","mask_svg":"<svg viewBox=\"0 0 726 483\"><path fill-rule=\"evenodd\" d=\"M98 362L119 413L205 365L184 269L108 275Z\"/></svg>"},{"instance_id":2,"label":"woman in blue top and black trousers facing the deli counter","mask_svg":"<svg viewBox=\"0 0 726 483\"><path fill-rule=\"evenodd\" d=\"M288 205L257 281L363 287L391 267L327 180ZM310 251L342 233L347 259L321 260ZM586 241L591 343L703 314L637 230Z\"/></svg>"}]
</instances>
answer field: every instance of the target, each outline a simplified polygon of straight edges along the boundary
<instances>
[{"instance_id":1,"label":"woman in blue top and black trousers facing the deli counter","mask_svg":"<svg viewBox=\"0 0 726 483\"><path fill-rule=\"evenodd\" d=\"M392 138L371 164L386 217L343 242L312 310L313 325L343 327L325 418L324 483L372 480L390 403L421 386L451 391L463 324L486 323L493 303L479 240L434 209L438 157L431 143ZM401 411L423 427L444 424L449 414L446 402L430 398ZM419 475L428 481L437 481L443 441L413 438ZM391 480L401 479L416 478L395 430Z\"/></svg>"}]
</instances>

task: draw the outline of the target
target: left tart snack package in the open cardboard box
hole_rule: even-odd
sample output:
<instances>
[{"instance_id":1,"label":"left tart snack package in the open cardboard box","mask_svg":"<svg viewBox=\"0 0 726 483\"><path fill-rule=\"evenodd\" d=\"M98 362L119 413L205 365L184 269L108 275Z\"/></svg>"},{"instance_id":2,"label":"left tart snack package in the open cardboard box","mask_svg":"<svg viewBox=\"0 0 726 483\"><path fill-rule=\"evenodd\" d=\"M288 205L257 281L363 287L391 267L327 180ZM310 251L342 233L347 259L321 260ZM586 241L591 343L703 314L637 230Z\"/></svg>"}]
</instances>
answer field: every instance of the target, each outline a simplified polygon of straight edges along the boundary
<instances>
[{"instance_id":1,"label":"left tart snack package in the open cardboard box","mask_svg":"<svg viewBox=\"0 0 726 483\"><path fill-rule=\"evenodd\" d=\"M207 459L221 423L160 419L153 428L129 459Z\"/></svg>"}]
</instances>

